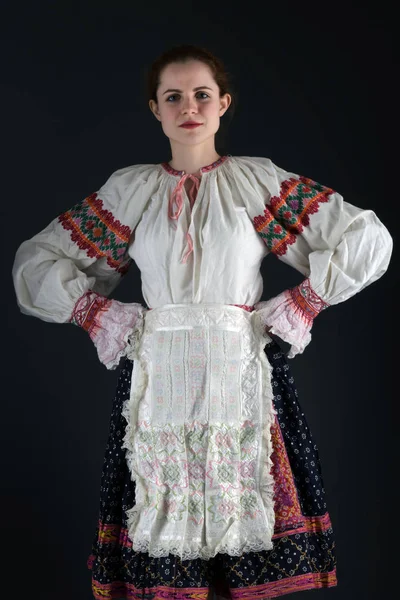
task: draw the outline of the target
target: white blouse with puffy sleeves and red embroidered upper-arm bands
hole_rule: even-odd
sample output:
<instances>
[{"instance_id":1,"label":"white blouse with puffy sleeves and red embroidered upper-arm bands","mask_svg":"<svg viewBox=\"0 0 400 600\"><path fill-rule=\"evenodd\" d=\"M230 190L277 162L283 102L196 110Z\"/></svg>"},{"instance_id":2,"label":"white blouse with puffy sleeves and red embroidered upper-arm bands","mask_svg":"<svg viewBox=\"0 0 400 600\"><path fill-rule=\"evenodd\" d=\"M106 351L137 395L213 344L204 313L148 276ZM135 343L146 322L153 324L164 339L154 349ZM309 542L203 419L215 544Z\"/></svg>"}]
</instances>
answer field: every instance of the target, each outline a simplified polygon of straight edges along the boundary
<instances>
[{"instance_id":1,"label":"white blouse with puffy sleeves and red embroidered upper-arm bands","mask_svg":"<svg viewBox=\"0 0 400 600\"><path fill-rule=\"evenodd\" d=\"M13 279L23 313L77 323L71 315L84 295L109 296L134 260L148 308L255 306L271 332L292 344L292 357L309 343L320 310L385 273L392 246L372 210L269 158L228 155L203 167L200 180L168 163L115 171L20 245ZM260 302L260 265L270 252L306 279ZM135 311L139 306L132 303ZM123 340L125 348L126 331Z\"/></svg>"}]
</instances>

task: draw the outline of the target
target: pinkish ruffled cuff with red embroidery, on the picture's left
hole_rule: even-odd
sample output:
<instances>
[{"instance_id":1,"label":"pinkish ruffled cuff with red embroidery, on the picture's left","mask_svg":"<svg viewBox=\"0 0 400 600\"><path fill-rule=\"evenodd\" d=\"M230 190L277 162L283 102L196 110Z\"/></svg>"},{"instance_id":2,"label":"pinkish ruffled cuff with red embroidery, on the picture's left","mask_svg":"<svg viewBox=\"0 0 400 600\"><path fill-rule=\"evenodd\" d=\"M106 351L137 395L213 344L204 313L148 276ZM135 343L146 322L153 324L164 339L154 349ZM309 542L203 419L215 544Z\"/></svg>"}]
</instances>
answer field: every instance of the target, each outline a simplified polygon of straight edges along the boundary
<instances>
[{"instance_id":1,"label":"pinkish ruffled cuff with red embroidery, on the picture's left","mask_svg":"<svg viewBox=\"0 0 400 600\"><path fill-rule=\"evenodd\" d=\"M125 304L89 290L77 301L70 322L89 333L100 362L115 369L123 356L135 357L146 310L137 302Z\"/></svg>"}]
</instances>

